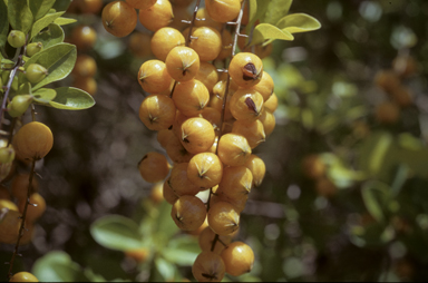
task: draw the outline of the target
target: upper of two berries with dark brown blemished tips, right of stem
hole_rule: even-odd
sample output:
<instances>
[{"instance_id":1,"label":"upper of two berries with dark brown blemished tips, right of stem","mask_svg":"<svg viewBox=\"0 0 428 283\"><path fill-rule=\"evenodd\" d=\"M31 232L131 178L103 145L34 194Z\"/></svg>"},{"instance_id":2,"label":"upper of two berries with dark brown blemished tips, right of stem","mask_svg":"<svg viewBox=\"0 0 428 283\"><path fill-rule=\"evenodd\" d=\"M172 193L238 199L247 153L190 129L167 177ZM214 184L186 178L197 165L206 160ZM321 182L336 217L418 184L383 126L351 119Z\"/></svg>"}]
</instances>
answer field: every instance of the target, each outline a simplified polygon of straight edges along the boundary
<instances>
[{"instance_id":1,"label":"upper of two berries with dark brown blemished tips, right of stem","mask_svg":"<svg viewBox=\"0 0 428 283\"><path fill-rule=\"evenodd\" d=\"M240 87L255 86L262 79L263 62L256 55L240 52L232 58L228 75Z\"/></svg>"}]
</instances>

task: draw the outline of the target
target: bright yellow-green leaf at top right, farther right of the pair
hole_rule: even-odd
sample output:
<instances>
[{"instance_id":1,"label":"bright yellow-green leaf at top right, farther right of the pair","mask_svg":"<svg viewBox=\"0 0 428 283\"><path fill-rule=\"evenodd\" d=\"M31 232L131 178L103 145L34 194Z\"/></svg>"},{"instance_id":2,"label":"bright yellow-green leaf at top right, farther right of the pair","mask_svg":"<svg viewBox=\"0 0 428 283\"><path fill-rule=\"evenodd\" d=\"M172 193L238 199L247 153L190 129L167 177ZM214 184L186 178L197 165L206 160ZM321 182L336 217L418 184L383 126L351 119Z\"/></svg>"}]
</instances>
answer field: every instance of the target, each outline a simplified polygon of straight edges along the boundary
<instances>
[{"instance_id":1,"label":"bright yellow-green leaf at top right, farther right of the pair","mask_svg":"<svg viewBox=\"0 0 428 283\"><path fill-rule=\"evenodd\" d=\"M309 14L292 13L279 20L276 27L290 33L298 33L320 29L321 23Z\"/></svg>"}]
</instances>

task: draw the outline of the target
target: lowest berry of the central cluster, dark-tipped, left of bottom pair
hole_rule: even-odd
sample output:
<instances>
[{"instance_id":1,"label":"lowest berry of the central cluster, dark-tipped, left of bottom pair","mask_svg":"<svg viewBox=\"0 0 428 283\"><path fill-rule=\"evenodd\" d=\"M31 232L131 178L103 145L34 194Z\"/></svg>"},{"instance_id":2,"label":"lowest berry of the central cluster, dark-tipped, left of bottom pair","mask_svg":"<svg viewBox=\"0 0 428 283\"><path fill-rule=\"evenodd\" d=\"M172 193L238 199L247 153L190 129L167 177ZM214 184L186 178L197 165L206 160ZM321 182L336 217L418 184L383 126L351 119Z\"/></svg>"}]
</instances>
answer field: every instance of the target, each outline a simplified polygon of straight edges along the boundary
<instances>
[{"instance_id":1,"label":"lowest berry of the central cluster, dark-tipped, left of bottom pair","mask_svg":"<svg viewBox=\"0 0 428 283\"><path fill-rule=\"evenodd\" d=\"M192 273L198 282L221 282L225 266L218 254L202 252L193 263Z\"/></svg>"}]
</instances>

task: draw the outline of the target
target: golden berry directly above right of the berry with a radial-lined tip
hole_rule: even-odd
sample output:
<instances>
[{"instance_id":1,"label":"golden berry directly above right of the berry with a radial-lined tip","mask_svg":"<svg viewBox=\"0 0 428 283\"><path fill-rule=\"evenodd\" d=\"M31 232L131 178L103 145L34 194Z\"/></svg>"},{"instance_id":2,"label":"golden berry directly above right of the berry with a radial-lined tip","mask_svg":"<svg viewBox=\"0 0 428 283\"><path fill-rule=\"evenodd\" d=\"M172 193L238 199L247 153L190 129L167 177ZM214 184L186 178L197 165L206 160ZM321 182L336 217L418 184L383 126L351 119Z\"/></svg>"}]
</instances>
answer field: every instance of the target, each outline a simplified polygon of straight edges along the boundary
<instances>
[{"instance_id":1,"label":"golden berry directly above right of the berry with a radial-lined tip","mask_svg":"<svg viewBox=\"0 0 428 283\"><path fill-rule=\"evenodd\" d=\"M184 38L187 38L187 35L188 28L183 31ZM222 36L214 28L196 27L192 29L189 47L197 52L201 61L212 61L222 50Z\"/></svg>"}]
</instances>

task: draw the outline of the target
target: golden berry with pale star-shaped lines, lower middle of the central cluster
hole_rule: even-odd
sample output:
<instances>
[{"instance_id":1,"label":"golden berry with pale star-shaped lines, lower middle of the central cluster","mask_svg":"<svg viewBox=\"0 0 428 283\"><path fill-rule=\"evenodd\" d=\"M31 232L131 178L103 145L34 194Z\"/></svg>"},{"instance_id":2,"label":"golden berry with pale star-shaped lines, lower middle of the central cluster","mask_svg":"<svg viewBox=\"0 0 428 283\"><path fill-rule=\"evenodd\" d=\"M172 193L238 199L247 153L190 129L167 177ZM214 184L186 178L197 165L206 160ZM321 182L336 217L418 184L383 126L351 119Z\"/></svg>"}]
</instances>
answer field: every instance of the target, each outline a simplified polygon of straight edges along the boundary
<instances>
[{"instance_id":1,"label":"golden berry with pale star-shaped lines, lower middle of the central cluster","mask_svg":"<svg viewBox=\"0 0 428 283\"><path fill-rule=\"evenodd\" d=\"M187 166L187 178L200 187L214 187L222 180L223 164L217 155L201 153L195 155Z\"/></svg>"}]
</instances>

